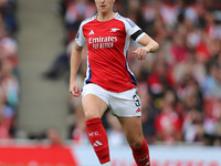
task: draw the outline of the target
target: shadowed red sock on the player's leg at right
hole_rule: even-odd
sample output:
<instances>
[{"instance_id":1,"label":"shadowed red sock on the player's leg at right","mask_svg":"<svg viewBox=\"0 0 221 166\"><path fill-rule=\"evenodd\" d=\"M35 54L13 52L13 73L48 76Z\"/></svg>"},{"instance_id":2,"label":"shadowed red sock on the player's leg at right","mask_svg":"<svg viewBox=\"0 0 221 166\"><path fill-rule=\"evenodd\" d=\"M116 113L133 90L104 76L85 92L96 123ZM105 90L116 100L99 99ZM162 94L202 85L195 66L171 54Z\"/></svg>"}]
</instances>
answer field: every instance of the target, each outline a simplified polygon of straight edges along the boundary
<instances>
[{"instance_id":1,"label":"shadowed red sock on the player's leg at right","mask_svg":"<svg viewBox=\"0 0 221 166\"><path fill-rule=\"evenodd\" d=\"M150 166L149 148L145 139L139 147L131 147L131 151L137 166Z\"/></svg>"}]
</instances>

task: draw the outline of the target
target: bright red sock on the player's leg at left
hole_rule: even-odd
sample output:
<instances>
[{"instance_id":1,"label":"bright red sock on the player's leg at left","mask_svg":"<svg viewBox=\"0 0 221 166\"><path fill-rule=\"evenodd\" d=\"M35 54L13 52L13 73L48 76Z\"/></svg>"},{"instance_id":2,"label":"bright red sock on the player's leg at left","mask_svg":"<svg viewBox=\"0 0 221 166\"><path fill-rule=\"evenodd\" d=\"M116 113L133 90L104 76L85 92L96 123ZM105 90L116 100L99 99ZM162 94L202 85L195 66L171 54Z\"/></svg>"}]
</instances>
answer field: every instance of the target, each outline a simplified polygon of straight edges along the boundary
<instances>
[{"instance_id":1,"label":"bright red sock on the player's leg at left","mask_svg":"<svg viewBox=\"0 0 221 166\"><path fill-rule=\"evenodd\" d=\"M90 142L99 159L99 163L104 164L109 162L107 134L102 125L102 120L99 117L87 120L86 128Z\"/></svg>"}]
</instances>

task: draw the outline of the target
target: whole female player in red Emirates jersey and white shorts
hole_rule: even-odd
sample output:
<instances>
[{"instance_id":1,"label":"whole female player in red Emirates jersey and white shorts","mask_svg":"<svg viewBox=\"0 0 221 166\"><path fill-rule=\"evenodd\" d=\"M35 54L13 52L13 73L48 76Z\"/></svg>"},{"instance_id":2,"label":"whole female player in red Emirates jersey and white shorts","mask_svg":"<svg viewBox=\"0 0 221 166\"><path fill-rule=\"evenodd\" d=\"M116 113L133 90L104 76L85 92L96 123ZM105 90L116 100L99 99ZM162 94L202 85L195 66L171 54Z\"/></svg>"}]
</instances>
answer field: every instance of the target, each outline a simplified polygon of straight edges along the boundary
<instances>
[{"instance_id":1,"label":"whole female player in red Emirates jersey and white shorts","mask_svg":"<svg viewBox=\"0 0 221 166\"><path fill-rule=\"evenodd\" d=\"M138 166L149 166L149 148L141 129L141 105L136 80L127 64L130 38L141 44L133 54L145 60L159 45L130 19L113 11L115 0L95 0L97 14L84 20L71 55L70 93L82 95L82 106L90 142L99 163L110 166L106 131L102 116L109 107L118 118ZM76 74L84 45L87 45L87 73L83 91Z\"/></svg>"}]
</instances>

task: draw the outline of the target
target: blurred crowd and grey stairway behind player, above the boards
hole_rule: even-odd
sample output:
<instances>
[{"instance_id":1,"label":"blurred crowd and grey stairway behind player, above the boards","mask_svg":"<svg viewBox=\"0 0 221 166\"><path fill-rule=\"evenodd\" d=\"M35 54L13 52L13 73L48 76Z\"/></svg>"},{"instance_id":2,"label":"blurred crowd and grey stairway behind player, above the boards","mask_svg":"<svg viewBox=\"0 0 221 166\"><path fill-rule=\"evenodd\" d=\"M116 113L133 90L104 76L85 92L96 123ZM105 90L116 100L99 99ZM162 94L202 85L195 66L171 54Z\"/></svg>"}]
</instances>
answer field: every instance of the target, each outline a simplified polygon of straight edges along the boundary
<instances>
[{"instance_id":1,"label":"blurred crowd and grey stairway behind player, above the boards","mask_svg":"<svg viewBox=\"0 0 221 166\"><path fill-rule=\"evenodd\" d=\"M221 1L116 0L114 8L160 44L143 62L131 54L136 43L128 52L147 143L220 147ZM0 0L0 142L88 144L69 73L80 23L95 13L94 0ZM85 71L86 48L81 87ZM126 144L109 112L103 124L110 145Z\"/></svg>"}]
</instances>

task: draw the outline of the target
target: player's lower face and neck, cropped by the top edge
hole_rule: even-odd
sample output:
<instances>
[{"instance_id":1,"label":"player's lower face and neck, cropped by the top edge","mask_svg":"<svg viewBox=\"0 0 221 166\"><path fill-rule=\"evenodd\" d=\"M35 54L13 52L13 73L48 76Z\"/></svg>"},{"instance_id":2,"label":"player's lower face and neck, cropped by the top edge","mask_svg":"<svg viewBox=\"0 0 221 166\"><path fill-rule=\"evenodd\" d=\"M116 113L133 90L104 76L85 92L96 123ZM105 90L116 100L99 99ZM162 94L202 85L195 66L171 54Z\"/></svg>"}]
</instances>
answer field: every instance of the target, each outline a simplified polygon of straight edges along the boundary
<instances>
[{"instance_id":1,"label":"player's lower face and neck, cropped by the top edge","mask_svg":"<svg viewBox=\"0 0 221 166\"><path fill-rule=\"evenodd\" d=\"M95 0L98 12L108 13L113 11L115 0Z\"/></svg>"}]
</instances>

